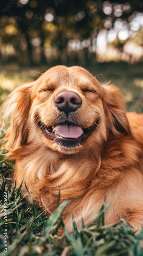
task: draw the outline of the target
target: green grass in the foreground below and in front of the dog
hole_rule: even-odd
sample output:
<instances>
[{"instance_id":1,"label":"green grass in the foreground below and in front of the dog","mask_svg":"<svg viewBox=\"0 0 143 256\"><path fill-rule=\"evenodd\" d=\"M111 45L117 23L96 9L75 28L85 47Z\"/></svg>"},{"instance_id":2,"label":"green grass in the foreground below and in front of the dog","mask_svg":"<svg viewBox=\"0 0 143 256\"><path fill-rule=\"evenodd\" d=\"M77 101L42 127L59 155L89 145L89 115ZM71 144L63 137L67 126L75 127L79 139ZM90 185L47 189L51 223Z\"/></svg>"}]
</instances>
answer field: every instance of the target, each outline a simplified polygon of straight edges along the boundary
<instances>
[{"instance_id":1,"label":"green grass in the foreground below and in front of the dog","mask_svg":"<svg viewBox=\"0 0 143 256\"><path fill-rule=\"evenodd\" d=\"M2 152L3 153L3 152ZM104 213L107 206L103 205L97 216L88 227L77 230L73 220L73 232L69 232L62 221L62 210L69 200L57 207L48 218L37 209L33 201L28 203L22 196L21 186L11 188L14 163L0 156L0 252L1 256L141 256L143 248L143 230L134 234L130 225L121 219L112 225L104 226ZM8 217L4 217L4 193L7 192ZM59 195L60 196L60 195ZM59 197L57 199L57 204ZM73 217L74 218L74 217ZM8 224L4 224L8 223ZM4 226L8 226L8 250L4 251ZM65 233L58 232L62 228Z\"/></svg>"}]
</instances>

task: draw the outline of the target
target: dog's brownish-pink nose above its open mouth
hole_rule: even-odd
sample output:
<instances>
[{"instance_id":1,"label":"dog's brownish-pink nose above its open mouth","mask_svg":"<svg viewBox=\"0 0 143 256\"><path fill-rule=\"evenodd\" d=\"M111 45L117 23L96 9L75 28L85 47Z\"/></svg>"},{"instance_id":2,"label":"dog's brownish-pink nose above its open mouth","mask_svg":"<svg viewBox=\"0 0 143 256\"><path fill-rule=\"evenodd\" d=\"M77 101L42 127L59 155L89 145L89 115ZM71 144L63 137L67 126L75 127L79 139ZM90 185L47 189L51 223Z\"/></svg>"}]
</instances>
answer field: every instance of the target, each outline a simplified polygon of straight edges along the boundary
<instances>
[{"instance_id":1,"label":"dog's brownish-pink nose above its open mouth","mask_svg":"<svg viewBox=\"0 0 143 256\"><path fill-rule=\"evenodd\" d=\"M82 104L79 95L71 91L59 92L54 98L54 105L66 114L76 111Z\"/></svg>"}]
</instances>

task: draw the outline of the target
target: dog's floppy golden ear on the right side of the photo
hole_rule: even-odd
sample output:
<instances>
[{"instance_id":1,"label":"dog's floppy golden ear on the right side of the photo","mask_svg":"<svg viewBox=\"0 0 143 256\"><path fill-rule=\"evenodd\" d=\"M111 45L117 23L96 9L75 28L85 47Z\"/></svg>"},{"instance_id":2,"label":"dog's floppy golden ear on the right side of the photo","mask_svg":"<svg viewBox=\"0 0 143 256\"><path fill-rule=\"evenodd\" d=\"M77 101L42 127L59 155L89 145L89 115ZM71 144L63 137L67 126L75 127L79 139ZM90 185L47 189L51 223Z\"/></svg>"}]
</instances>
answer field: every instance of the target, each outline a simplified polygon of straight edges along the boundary
<instances>
[{"instance_id":1,"label":"dog's floppy golden ear on the right side of the photo","mask_svg":"<svg viewBox=\"0 0 143 256\"><path fill-rule=\"evenodd\" d=\"M103 106L108 123L108 130L113 135L131 135L126 117L126 106L121 91L115 86L103 86Z\"/></svg>"}]
</instances>

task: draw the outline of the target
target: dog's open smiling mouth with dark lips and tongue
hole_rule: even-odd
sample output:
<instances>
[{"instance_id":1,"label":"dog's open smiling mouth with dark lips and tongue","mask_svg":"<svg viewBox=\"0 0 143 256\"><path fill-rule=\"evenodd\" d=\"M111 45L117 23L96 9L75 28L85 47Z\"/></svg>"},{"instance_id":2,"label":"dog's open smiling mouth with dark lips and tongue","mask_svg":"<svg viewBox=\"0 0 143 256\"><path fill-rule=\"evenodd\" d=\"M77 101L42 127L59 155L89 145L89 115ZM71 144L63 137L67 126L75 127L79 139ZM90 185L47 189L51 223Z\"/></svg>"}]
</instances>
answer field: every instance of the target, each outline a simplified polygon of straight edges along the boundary
<instances>
[{"instance_id":1,"label":"dog's open smiling mouth with dark lips and tongue","mask_svg":"<svg viewBox=\"0 0 143 256\"><path fill-rule=\"evenodd\" d=\"M86 141L93 130L97 127L99 119L94 125L88 128L81 128L70 122L60 123L54 127L46 126L40 121L38 123L40 129L48 140L53 140L54 143L62 143L66 147L75 147Z\"/></svg>"}]
</instances>

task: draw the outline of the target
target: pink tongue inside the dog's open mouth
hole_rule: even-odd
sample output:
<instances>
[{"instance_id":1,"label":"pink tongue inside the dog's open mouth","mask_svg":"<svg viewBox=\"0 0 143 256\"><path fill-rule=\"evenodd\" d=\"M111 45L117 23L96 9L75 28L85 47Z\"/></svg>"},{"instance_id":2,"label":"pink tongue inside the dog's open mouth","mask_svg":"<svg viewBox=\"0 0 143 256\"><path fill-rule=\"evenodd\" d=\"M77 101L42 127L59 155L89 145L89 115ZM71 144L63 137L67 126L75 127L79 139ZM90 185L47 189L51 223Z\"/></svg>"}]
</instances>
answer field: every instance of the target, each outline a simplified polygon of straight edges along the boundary
<instances>
[{"instance_id":1,"label":"pink tongue inside the dog's open mouth","mask_svg":"<svg viewBox=\"0 0 143 256\"><path fill-rule=\"evenodd\" d=\"M57 132L57 135L70 139L78 138L82 135L82 133L84 133L79 126L71 124L59 124L53 129L53 132L54 131Z\"/></svg>"}]
</instances>

